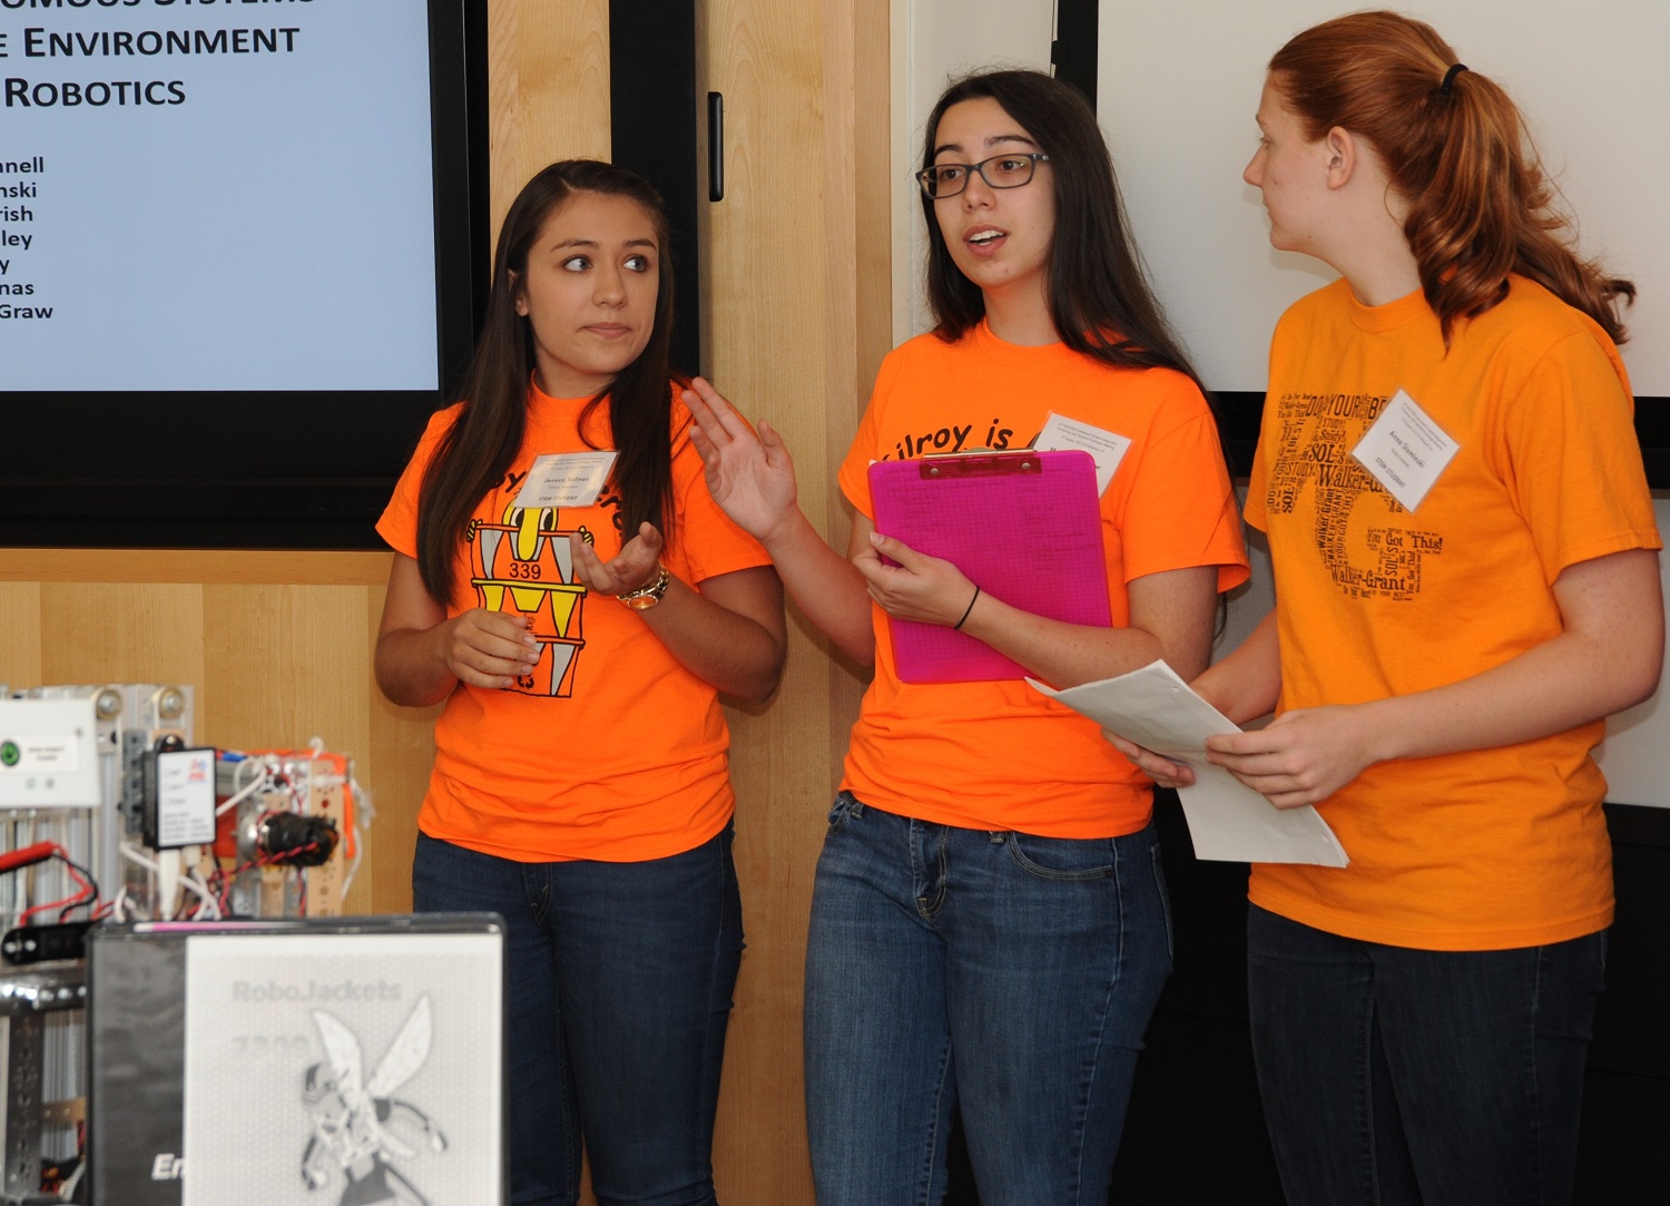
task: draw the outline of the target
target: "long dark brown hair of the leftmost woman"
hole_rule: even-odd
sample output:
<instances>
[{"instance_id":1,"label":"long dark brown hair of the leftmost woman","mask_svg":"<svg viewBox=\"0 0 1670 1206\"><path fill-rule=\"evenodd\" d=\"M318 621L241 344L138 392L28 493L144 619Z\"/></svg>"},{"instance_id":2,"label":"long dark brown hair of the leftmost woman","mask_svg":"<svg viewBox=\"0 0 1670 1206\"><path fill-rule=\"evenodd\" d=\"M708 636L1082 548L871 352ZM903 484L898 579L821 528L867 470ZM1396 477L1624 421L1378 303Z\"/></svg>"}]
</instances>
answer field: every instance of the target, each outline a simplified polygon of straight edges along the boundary
<instances>
[{"instance_id":1,"label":"long dark brown hair of the leftmost woman","mask_svg":"<svg viewBox=\"0 0 1670 1206\"><path fill-rule=\"evenodd\" d=\"M453 560L471 513L504 479L528 426L528 383L534 366L533 327L516 312L518 281L546 220L576 192L626 197L643 205L655 227L660 286L650 342L579 416L579 429L610 398L615 448L613 486L620 493L621 538L648 519L673 541L671 404L668 347L673 337L673 262L661 197L625 167L591 159L551 164L523 185L499 229L493 291L476 354L458 386L458 423L436 448L418 494L418 570L433 598L449 603L458 586Z\"/></svg>"}]
</instances>

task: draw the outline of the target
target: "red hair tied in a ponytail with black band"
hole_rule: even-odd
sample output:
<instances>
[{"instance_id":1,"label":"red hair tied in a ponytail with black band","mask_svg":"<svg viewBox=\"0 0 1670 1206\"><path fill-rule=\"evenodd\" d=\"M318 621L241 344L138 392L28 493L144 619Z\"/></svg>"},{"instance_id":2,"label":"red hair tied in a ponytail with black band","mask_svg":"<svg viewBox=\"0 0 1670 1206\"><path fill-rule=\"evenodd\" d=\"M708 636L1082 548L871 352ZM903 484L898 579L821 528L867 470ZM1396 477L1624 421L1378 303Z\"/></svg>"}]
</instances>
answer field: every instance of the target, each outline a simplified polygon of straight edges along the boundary
<instances>
[{"instance_id":1,"label":"red hair tied in a ponytail with black band","mask_svg":"<svg viewBox=\"0 0 1670 1206\"><path fill-rule=\"evenodd\" d=\"M1622 344L1618 302L1633 301L1635 286L1576 256L1520 110L1491 79L1455 65L1431 25L1363 12L1296 35L1269 72L1308 139L1341 127L1379 154L1409 204L1403 232L1446 342L1458 319L1506 297L1518 272Z\"/></svg>"}]
</instances>

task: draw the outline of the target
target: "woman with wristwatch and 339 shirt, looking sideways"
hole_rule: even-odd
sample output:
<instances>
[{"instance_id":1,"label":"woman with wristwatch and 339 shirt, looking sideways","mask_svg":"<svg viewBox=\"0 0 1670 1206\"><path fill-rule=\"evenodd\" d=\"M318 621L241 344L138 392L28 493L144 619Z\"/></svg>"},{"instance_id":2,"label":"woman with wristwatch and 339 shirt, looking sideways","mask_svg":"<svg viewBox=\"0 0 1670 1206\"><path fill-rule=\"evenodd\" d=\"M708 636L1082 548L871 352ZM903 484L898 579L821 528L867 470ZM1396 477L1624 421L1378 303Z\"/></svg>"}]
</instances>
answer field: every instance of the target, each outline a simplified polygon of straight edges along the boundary
<instances>
[{"instance_id":1,"label":"woman with wristwatch and 339 shirt, looking sideways","mask_svg":"<svg viewBox=\"0 0 1670 1206\"><path fill-rule=\"evenodd\" d=\"M518 1204L576 1201L581 1139L600 1203L713 1201L741 957L718 695L765 700L785 628L690 444L666 244L625 169L529 180L461 401L377 524L377 683L446 702L412 900L506 920Z\"/></svg>"}]
</instances>

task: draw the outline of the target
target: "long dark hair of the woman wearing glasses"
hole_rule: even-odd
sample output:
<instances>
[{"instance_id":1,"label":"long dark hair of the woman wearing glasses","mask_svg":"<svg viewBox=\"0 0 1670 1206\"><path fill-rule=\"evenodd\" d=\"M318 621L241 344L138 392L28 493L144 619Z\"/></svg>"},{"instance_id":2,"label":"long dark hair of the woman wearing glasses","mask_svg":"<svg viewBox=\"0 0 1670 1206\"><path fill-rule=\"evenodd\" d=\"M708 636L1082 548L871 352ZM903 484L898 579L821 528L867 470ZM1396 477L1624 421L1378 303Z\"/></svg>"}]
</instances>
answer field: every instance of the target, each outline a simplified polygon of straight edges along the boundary
<instances>
[{"instance_id":1,"label":"long dark hair of the woman wearing glasses","mask_svg":"<svg viewBox=\"0 0 1670 1206\"><path fill-rule=\"evenodd\" d=\"M1060 341L1106 364L1177 369L1199 384L1142 271L1107 142L1084 94L1042 72L965 75L945 89L929 115L924 169L934 165L935 134L945 110L977 99L1002 105L1050 157L1055 237L1049 256L1049 314ZM927 195L922 214L929 224L929 304L935 334L960 339L985 317L985 297L952 259Z\"/></svg>"}]
</instances>

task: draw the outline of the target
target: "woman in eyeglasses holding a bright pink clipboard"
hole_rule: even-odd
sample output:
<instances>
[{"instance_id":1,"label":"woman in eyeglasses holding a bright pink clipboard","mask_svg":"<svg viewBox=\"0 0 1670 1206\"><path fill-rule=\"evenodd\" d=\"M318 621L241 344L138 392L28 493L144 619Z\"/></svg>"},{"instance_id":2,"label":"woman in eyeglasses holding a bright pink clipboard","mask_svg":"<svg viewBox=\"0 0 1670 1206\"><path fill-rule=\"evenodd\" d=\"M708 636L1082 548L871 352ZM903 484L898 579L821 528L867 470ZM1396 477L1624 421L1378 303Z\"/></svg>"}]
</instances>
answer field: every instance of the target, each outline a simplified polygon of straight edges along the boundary
<instances>
[{"instance_id":1,"label":"woman in eyeglasses holding a bright pink clipboard","mask_svg":"<svg viewBox=\"0 0 1670 1206\"><path fill-rule=\"evenodd\" d=\"M797 508L777 433L757 438L706 383L691 396L715 499L830 640L875 665L812 904L817 1193L939 1201L960 1112L982 1199L1106 1201L1171 969L1149 780L1024 682L902 683L885 621L957 626L1057 687L1156 658L1192 676L1246 558L1211 409L1137 267L1086 100L1035 72L979 73L927 134L937 327L887 357L840 469L850 560ZM952 449L1022 448L1050 411L1131 441L1101 498L1111 628L977 595L870 518L872 459L937 431Z\"/></svg>"}]
</instances>

